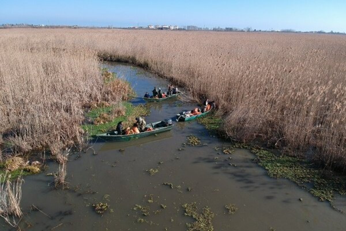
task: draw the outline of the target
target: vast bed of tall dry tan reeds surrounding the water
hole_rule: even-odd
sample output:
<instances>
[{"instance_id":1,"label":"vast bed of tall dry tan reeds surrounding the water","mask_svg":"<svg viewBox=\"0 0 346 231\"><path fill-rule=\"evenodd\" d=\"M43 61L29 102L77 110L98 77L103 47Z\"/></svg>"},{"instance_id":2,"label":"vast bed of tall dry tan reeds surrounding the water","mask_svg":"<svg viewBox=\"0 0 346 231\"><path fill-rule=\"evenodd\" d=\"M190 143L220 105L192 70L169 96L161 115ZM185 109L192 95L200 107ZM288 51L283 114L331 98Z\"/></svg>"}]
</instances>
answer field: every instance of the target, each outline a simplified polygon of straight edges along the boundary
<instances>
[{"instance_id":1,"label":"vast bed of tall dry tan reeds surrounding the water","mask_svg":"<svg viewBox=\"0 0 346 231\"><path fill-rule=\"evenodd\" d=\"M47 129L38 122L46 117L56 115L53 120L70 127L66 117L73 115L68 121L78 124L75 102L101 98L97 54L144 65L194 97L215 99L229 136L309 151L328 166L346 166L345 36L106 29L12 29L0 35L0 113L6 118L0 129L35 127L41 137ZM29 78L32 72L38 74ZM45 87L33 90L37 85ZM48 92L54 103L40 97ZM46 114L37 115L36 107ZM52 107L61 110L52 115ZM78 133L75 126L66 142Z\"/></svg>"}]
</instances>

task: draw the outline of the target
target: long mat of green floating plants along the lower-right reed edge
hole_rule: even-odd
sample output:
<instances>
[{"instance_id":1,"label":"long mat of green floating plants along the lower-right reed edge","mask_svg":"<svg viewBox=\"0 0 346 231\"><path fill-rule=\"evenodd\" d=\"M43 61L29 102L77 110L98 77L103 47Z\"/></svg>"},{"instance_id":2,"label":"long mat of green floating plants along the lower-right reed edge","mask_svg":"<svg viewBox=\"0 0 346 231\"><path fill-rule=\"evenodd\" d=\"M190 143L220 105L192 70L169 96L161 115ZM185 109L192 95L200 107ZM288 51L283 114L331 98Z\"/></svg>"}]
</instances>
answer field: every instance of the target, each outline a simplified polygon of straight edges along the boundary
<instances>
[{"instance_id":1,"label":"long mat of green floating plants along the lower-right reed edge","mask_svg":"<svg viewBox=\"0 0 346 231\"><path fill-rule=\"evenodd\" d=\"M318 197L320 201L329 201L333 206L335 193L346 195L346 177L334 172L325 172L313 163L299 157L276 155L262 148L253 147L255 161L267 170L273 178L287 178ZM334 207L334 206L333 206Z\"/></svg>"}]
</instances>

